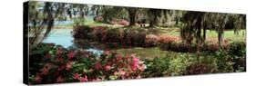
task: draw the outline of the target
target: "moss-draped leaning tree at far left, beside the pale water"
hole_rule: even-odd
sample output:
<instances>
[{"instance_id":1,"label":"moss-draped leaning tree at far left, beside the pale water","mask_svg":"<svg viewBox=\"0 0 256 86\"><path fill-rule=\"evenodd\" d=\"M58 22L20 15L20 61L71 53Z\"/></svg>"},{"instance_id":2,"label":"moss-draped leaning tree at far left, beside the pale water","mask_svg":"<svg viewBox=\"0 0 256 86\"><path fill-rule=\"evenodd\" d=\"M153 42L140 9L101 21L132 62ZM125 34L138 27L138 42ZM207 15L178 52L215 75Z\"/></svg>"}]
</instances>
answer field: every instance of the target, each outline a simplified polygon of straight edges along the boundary
<instances>
[{"instance_id":1,"label":"moss-draped leaning tree at far left, beside the pale water","mask_svg":"<svg viewBox=\"0 0 256 86\"><path fill-rule=\"evenodd\" d=\"M52 30L55 20L60 15L65 14L64 3L52 3L52 2L30 2L29 3L29 31L30 31L30 43L36 44L47 36ZM46 32L43 33L44 28ZM41 35L43 33L43 35Z\"/></svg>"}]
</instances>

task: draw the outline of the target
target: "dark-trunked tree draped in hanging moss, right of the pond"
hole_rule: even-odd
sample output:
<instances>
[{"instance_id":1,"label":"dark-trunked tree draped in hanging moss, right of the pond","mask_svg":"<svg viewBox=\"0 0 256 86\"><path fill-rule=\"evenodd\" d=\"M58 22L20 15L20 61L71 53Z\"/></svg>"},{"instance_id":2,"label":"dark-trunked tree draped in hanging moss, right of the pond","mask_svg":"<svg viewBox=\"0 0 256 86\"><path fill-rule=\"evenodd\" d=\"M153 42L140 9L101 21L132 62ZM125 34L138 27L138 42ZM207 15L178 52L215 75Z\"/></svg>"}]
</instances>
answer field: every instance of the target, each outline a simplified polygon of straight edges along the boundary
<instances>
[{"instance_id":1,"label":"dark-trunked tree draped in hanging moss, right of the pond","mask_svg":"<svg viewBox=\"0 0 256 86\"><path fill-rule=\"evenodd\" d=\"M180 30L183 43L191 46L194 39L196 39L198 46L204 43L206 38L205 18L206 14L202 12L187 12L184 14L182 22L185 26Z\"/></svg>"}]
</instances>

